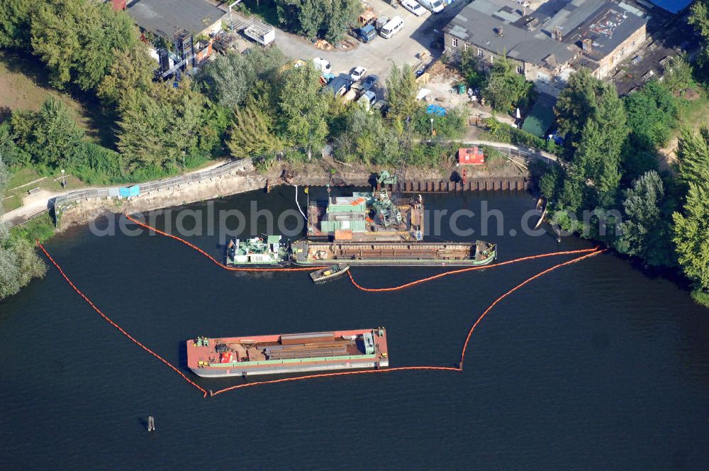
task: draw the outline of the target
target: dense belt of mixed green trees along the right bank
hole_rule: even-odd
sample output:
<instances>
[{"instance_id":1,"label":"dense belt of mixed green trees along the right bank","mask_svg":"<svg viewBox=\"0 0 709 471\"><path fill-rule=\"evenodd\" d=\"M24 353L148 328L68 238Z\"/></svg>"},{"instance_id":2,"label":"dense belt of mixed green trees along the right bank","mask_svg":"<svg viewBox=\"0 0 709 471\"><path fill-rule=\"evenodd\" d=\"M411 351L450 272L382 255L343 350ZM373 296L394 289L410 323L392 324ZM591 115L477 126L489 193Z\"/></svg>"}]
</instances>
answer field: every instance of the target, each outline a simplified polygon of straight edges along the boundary
<instances>
[{"instance_id":1,"label":"dense belt of mixed green trees along the right bank","mask_svg":"<svg viewBox=\"0 0 709 471\"><path fill-rule=\"evenodd\" d=\"M562 229L605 240L652 266L679 265L709 305L709 131L684 130L676 174L660 174L657 150L678 126L682 94L694 87L678 57L663 82L619 99L581 70L557 101L562 165L540 179Z\"/></svg>"}]
</instances>

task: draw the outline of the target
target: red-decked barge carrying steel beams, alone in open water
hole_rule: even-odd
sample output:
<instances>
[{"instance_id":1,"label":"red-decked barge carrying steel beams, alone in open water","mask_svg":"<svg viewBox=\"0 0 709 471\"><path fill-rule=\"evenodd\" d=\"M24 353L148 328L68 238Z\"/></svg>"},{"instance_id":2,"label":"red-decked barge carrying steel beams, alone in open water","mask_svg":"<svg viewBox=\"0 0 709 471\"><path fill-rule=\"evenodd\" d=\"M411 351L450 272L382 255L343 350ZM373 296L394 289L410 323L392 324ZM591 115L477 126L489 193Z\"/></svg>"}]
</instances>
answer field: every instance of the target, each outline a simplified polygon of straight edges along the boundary
<instances>
[{"instance_id":1,"label":"red-decked barge carrying steel beams, alone in open water","mask_svg":"<svg viewBox=\"0 0 709 471\"><path fill-rule=\"evenodd\" d=\"M386 329L197 337L187 340L187 366L212 378L383 368Z\"/></svg>"}]
</instances>

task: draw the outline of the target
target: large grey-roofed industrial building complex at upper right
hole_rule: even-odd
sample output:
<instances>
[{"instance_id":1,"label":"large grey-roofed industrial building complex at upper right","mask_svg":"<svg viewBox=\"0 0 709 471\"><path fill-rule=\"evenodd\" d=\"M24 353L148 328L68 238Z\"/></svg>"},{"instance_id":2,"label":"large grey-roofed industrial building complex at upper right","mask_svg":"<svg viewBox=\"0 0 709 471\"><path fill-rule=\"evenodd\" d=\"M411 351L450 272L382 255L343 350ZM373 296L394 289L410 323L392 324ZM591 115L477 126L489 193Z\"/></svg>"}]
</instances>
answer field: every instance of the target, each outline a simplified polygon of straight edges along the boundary
<instances>
[{"instance_id":1,"label":"large grey-roofed industrial building complex at upper right","mask_svg":"<svg viewBox=\"0 0 709 471\"><path fill-rule=\"evenodd\" d=\"M444 28L445 51L472 50L489 67L506 55L538 92L557 96L586 67L603 79L646 39L647 15L620 1L474 0Z\"/></svg>"}]
</instances>

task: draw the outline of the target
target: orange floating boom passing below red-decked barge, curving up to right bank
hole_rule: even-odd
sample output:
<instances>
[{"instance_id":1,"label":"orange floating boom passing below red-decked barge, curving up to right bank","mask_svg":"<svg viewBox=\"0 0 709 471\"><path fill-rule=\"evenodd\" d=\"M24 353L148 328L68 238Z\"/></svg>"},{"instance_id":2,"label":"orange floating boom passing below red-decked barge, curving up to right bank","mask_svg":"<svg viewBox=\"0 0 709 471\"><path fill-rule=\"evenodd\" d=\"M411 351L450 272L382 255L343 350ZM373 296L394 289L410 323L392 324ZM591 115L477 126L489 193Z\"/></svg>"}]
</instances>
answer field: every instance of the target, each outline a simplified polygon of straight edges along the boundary
<instances>
[{"instance_id":1,"label":"orange floating boom passing below red-decked barge, curving up to right bank","mask_svg":"<svg viewBox=\"0 0 709 471\"><path fill-rule=\"evenodd\" d=\"M446 366L401 366L401 367L393 367L393 368L386 368L384 370L365 370L365 371L347 371L347 372L334 372L334 373L323 373L319 375L306 375L306 376L297 376L297 377L289 377L289 378L282 378L282 379L270 379L267 381L257 381L257 382L251 382L251 383L244 383L244 384L236 384L235 386L231 387L225 387L224 389L219 389L217 392L210 392L212 396L216 396L217 394L221 394L223 392L228 392L228 391L233 391L234 389L241 389L244 387L252 387L252 386L261 386L263 384L275 384L275 383L281 383L281 382L290 382L290 381L299 381L301 379L313 379L313 378L324 378L324 377L333 377L333 376L343 376L343 375L369 375L372 373L386 373L386 372L393 372L393 371L406 371L406 370L439 370L439 371L456 371L456 372L462 372L463 371L463 361L465 359L465 350L468 348L468 344L470 342L470 338L473 335L473 331L475 328L479 325L479 323L483 320L483 318L495 307L498 302L502 301L506 297L508 297L510 294L513 292L517 291L521 287L525 286L525 284L531 282L534 279L537 279L539 277L542 277L543 275L546 275L549 272L552 272L553 270L556 270L557 268L564 267L566 265L571 265L572 263L580 262L581 260L584 260L588 257L593 257L594 255L598 255L599 253L605 252L606 249L603 250L598 250L598 248L591 249L592 251L590 253L587 253L586 255L581 255L581 257L576 257L572 260L568 260L566 262L559 263L557 265L554 265L553 267L547 268L547 270L543 270L542 272L537 273L537 275L534 275L532 277L529 277L525 279L525 281L521 282L517 286L515 286L513 289L510 289L508 292L505 294L501 295L501 297L498 297L495 301L493 301L490 306L488 306L487 309L483 312L483 314L480 315L480 317L475 321L473 326L470 328L468 331L468 336L465 339L465 343L463 345L463 350L461 353L461 358L460 362L458 364L458 367L446 367ZM582 250L582 252L588 252L588 250ZM578 253L578 251L576 251Z\"/></svg>"}]
</instances>

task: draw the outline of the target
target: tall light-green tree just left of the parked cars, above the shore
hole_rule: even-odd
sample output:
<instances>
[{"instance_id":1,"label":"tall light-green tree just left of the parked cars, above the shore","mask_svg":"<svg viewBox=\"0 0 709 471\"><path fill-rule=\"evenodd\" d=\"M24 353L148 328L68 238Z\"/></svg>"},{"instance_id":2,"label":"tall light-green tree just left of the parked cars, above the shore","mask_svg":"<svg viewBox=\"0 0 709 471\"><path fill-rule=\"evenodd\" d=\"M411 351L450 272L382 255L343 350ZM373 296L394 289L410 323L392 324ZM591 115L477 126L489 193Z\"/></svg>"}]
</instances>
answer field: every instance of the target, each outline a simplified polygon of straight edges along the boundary
<instances>
[{"instance_id":1,"label":"tall light-green tree just left of the parked cars, above the shore","mask_svg":"<svg viewBox=\"0 0 709 471\"><path fill-rule=\"evenodd\" d=\"M279 94L280 128L286 138L312 153L325 141L328 97L320 88L320 72L313 62L290 69Z\"/></svg>"}]
</instances>

